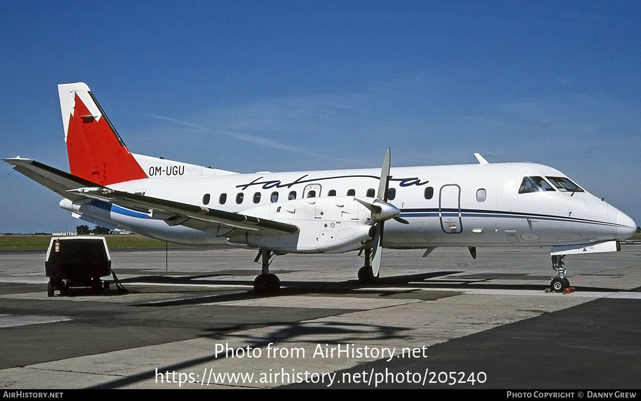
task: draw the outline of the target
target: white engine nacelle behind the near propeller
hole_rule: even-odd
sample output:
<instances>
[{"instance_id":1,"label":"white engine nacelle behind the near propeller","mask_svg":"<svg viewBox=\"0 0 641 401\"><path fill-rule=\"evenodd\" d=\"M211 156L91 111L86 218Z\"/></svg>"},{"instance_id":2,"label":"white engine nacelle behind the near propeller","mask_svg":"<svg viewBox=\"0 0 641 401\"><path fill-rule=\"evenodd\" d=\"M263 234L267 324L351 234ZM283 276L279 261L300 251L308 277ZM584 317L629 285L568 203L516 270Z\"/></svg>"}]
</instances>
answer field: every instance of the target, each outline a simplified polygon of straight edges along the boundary
<instances>
[{"instance_id":1,"label":"white engine nacelle behind the near propeller","mask_svg":"<svg viewBox=\"0 0 641 401\"><path fill-rule=\"evenodd\" d=\"M359 249L374 237L372 213L353 197L287 200L243 211L258 218L297 225L296 234L247 233L229 243L298 253L341 253Z\"/></svg>"}]
</instances>

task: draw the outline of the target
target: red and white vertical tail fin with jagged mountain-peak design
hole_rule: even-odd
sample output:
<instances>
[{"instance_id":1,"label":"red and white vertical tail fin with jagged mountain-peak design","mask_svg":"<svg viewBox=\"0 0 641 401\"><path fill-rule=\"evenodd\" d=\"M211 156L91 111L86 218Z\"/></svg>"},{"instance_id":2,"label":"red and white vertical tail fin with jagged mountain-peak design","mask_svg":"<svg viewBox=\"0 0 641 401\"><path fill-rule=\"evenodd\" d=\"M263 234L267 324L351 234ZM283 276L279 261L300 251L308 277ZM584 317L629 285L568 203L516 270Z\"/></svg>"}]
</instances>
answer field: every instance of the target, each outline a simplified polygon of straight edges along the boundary
<instances>
[{"instance_id":1,"label":"red and white vertical tail fin with jagged mountain-peak design","mask_svg":"<svg viewBox=\"0 0 641 401\"><path fill-rule=\"evenodd\" d=\"M101 185L146 178L85 83L58 85L71 174Z\"/></svg>"}]
</instances>

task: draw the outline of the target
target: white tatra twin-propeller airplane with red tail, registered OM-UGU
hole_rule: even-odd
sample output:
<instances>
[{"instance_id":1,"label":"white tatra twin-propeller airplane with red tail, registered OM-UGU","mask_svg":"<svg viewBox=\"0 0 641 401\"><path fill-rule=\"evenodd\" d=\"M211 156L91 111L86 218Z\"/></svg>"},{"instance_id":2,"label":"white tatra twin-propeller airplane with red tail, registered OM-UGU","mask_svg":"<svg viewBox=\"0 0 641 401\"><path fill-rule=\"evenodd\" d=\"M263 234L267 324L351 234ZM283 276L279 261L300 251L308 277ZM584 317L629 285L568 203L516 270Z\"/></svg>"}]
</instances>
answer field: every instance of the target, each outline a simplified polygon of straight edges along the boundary
<instances>
[{"instance_id":1,"label":"white tatra twin-propeller airplane with red tail, registered OM-UGU","mask_svg":"<svg viewBox=\"0 0 641 401\"><path fill-rule=\"evenodd\" d=\"M360 250L362 282L379 275L381 250L550 246L554 291L569 287L563 256L619 250L631 218L562 172L532 163L383 167L238 174L129 152L84 83L58 85L71 174L6 159L64 197L94 224L190 245L258 249L257 293L278 290L272 256Z\"/></svg>"}]
</instances>

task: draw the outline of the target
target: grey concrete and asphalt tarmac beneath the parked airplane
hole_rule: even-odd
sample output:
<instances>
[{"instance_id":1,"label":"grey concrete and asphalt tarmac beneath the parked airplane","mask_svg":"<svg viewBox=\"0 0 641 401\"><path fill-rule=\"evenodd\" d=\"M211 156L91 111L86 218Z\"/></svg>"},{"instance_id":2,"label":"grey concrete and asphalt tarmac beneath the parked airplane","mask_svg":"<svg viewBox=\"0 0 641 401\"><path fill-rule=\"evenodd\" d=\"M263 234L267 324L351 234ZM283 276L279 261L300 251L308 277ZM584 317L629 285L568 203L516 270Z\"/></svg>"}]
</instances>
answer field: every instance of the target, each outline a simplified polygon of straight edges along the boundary
<instances>
[{"instance_id":1,"label":"grey concrete and asphalt tarmac beneath the parked airplane","mask_svg":"<svg viewBox=\"0 0 641 401\"><path fill-rule=\"evenodd\" d=\"M0 252L0 388L640 388L641 246L278 256L258 297L251 250L112 249L129 290L47 298L45 251ZM166 270L165 270L166 269ZM451 373L454 372L454 373Z\"/></svg>"}]
</instances>

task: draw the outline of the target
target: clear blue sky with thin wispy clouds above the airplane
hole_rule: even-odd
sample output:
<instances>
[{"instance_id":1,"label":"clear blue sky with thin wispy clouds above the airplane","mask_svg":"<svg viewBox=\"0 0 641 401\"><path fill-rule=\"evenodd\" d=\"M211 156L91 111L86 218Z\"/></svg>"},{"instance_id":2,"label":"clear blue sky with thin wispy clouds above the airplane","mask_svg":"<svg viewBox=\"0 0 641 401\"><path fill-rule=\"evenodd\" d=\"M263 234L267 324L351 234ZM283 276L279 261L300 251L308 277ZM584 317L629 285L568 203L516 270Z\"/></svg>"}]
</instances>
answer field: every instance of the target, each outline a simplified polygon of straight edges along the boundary
<instances>
[{"instance_id":1,"label":"clear blue sky with thin wispy clouds above the airplane","mask_svg":"<svg viewBox=\"0 0 641 401\"><path fill-rule=\"evenodd\" d=\"M307 4L312 3L312 4ZM641 3L0 3L3 158L68 169L56 85L133 152L238 172L533 161L641 222ZM0 232L81 224L0 166Z\"/></svg>"}]
</instances>

